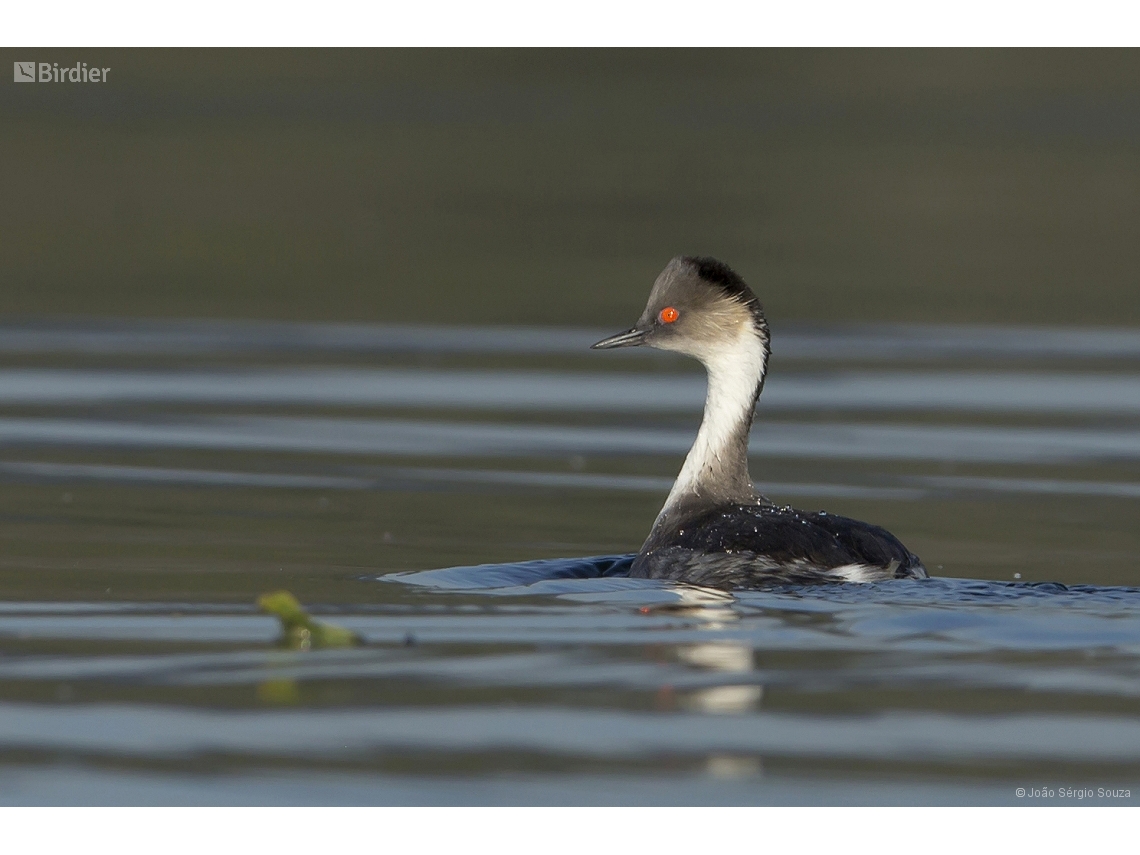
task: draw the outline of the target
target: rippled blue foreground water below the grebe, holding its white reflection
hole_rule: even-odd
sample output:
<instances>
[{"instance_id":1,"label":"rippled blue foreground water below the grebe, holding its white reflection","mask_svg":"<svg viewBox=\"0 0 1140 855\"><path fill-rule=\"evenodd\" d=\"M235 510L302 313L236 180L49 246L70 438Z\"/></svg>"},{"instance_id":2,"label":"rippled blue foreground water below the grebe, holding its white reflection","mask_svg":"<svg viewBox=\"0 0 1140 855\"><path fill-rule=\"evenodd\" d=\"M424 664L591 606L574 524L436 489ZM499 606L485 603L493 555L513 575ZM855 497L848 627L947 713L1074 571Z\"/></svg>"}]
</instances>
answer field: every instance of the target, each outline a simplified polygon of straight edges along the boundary
<instances>
[{"instance_id":1,"label":"rippled blue foreground water below the grebe, holding its white reflection","mask_svg":"<svg viewBox=\"0 0 1140 855\"><path fill-rule=\"evenodd\" d=\"M1121 781L1140 768L1138 589L936 580L732 596L636 579L611 588L620 577L605 573L620 565L499 565L495 580L521 597L506 602L464 581L488 568L459 569L449 591L417 586L415 608L341 613L367 648L303 657L272 648L269 618L231 605L10 603L0 685L24 699L0 700L0 746L65 754L60 780L75 764L130 774L140 760L202 758L227 774L348 768L420 785L470 775L472 758L512 769L520 756L594 774L617 764L641 781L677 764L759 781L772 776L765 759L808 776L858 763L872 781L905 780L915 762L939 781L1077 766ZM539 596L544 583L593 600ZM187 611L188 626L174 617ZM415 648L402 645L408 632ZM765 710L763 653L764 684L809 700Z\"/></svg>"}]
</instances>

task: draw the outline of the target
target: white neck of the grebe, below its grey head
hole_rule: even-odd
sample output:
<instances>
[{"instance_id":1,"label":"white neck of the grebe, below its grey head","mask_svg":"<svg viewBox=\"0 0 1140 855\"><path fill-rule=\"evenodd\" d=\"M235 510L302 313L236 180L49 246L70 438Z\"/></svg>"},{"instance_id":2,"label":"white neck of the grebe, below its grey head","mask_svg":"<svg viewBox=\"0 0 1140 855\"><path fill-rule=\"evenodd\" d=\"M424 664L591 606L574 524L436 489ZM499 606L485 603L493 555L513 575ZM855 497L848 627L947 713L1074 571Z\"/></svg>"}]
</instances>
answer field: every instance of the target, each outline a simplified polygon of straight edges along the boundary
<instances>
[{"instance_id":1,"label":"white neck of the grebe, below its grey head","mask_svg":"<svg viewBox=\"0 0 1140 855\"><path fill-rule=\"evenodd\" d=\"M685 497L743 498L740 494L754 492L748 475L748 430L767 366L766 342L751 324L742 324L734 339L694 356L708 372L705 417L662 515Z\"/></svg>"}]
</instances>

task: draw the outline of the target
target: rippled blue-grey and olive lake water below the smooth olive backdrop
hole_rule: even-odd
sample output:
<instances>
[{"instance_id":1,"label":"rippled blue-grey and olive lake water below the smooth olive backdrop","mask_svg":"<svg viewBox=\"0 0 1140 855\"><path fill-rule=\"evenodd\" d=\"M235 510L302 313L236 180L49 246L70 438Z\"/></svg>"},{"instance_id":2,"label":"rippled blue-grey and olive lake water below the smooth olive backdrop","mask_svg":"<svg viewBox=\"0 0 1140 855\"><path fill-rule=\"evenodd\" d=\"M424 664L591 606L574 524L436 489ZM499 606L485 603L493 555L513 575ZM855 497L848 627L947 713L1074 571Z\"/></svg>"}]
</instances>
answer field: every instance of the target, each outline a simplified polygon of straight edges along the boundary
<instances>
[{"instance_id":1,"label":"rippled blue-grey and olive lake water below the smooth olive backdrop","mask_svg":"<svg viewBox=\"0 0 1140 855\"><path fill-rule=\"evenodd\" d=\"M757 483L936 578L727 595L616 328L8 321L0 803L1140 803L1140 331L774 325Z\"/></svg>"}]
</instances>

